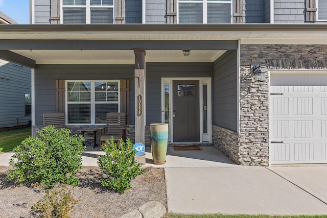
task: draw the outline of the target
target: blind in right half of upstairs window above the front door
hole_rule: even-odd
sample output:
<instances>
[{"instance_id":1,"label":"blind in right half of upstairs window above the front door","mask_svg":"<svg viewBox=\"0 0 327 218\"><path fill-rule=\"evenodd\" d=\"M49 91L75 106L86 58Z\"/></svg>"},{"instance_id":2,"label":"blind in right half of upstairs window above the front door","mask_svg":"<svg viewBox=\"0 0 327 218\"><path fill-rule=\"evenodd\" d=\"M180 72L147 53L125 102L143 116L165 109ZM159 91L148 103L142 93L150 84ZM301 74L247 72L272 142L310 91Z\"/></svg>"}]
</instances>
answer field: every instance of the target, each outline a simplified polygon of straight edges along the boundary
<instances>
[{"instance_id":1,"label":"blind in right half of upstairs window above the front door","mask_svg":"<svg viewBox=\"0 0 327 218\"><path fill-rule=\"evenodd\" d=\"M230 23L230 4L208 3L207 23Z\"/></svg>"}]
</instances>

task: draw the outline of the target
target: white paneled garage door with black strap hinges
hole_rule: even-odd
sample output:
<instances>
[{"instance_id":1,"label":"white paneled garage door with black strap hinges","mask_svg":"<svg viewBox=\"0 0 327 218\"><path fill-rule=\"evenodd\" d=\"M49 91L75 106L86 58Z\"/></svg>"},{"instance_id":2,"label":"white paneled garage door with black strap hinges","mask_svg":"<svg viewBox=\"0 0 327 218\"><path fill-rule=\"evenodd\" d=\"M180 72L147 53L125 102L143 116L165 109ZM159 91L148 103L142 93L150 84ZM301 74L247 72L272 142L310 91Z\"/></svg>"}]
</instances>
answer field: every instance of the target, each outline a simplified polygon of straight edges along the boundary
<instances>
[{"instance_id":1,"label":"white paneled garage door with black strap hinges","mask_svg":"<svg viewBox=\"0 0 327 218\"><path fill-rule=\"evenodd\" d=\"M327 163L327 72L271 74L271 164Z\"/></svg>"}]
</instances>

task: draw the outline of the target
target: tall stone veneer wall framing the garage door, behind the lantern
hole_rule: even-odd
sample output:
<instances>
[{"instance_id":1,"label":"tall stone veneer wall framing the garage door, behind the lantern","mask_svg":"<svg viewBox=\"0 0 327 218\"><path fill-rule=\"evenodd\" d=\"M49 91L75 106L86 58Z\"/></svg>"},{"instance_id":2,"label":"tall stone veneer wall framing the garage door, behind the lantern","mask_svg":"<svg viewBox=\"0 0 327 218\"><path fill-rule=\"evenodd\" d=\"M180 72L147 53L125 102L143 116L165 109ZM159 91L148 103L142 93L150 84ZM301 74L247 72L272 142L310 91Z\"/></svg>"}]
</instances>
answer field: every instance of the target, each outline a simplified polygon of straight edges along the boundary
<instances>
[{"instance_id":1,"label":"tall stone veneer wall framing the garage door, behind the lantern","mask_svg":"<svg viewBox=\"0 0 327 218\"><path fill-rule=\"evenodd\" d=\"M239 161L269 163L269 69L326 69L327 45L241 45ZM265 82L254 82L250 64L260 63Z\"/></svg>"}]
</instances>

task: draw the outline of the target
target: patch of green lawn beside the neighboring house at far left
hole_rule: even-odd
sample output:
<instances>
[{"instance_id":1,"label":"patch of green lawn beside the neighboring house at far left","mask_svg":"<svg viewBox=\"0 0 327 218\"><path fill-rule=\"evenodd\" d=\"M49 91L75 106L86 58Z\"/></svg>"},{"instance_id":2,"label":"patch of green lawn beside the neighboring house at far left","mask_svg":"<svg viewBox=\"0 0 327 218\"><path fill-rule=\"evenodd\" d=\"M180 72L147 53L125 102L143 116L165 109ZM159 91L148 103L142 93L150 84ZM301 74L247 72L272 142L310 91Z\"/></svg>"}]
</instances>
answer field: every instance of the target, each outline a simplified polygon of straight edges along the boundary
<instances>
[{"instance_id":1,"label":"patch of green lawn beside the neighboring house at far left","mask_svg":"<svg viewBox=\"0 0 327 218\"><path fill-rule=\"evenodd\" d=\"M13 148L18 146L22 140L31 136L31 134L31 127L1 131L0 148L4 149L3 152L12 151Z\"/></svg>"}]
</instances>

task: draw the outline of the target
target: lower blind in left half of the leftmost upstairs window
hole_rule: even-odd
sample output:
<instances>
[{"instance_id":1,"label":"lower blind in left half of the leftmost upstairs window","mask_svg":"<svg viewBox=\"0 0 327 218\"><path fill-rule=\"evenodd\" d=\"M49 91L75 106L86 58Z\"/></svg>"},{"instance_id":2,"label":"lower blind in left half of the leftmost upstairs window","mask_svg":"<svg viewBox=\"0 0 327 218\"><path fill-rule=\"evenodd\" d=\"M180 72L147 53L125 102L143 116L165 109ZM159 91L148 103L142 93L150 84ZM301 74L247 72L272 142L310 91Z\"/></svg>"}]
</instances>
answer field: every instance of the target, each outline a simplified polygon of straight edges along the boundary
<instances>
[{"instance_id":1,"label":"lower blind in left half of the leftmost upstairs window","mask_svg":"<svg viewBox=\"0 0 327 218\"><path fill-rule=\"evenodd\" d=\"M86 23L86 9L63 8L63 23Z\"/></svg>"}]
</instances>

